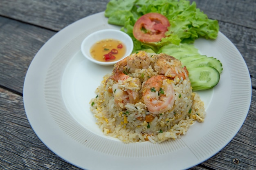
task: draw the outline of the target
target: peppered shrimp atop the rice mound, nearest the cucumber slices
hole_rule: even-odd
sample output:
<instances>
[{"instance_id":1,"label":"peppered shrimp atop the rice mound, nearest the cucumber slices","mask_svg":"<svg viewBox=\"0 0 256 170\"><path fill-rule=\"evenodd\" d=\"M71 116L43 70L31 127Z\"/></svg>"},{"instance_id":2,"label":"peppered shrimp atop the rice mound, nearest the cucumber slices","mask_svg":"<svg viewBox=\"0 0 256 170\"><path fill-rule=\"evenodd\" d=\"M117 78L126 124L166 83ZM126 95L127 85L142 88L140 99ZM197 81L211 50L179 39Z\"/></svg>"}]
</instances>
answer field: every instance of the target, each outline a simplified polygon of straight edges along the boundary
<instances>
[{"instance_id":1,"label":"peppered shrimp atop the rice mound, nearest the cucumber slices","mask_svg":"<svg viewBox=\"0 0 256 170\"><path fill-rule=\"evenodd\" d=\"M155 58L154 69L158 71L159 74L164 74L166 77L179 77L186 79L189 76L189 72L186 66L182 68L182 63L175 57L160 53Z\"/></svg>"}]
</instances>

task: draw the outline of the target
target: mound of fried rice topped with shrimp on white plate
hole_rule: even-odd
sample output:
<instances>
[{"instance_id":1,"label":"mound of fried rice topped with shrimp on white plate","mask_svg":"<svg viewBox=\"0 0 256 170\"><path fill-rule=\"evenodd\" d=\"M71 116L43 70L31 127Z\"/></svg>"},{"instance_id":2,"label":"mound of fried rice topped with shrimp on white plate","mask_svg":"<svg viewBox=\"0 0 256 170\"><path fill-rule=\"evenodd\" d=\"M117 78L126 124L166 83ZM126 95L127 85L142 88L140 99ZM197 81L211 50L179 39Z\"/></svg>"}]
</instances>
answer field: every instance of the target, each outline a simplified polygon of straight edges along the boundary
<instances>
[{"instance_id":1,"label":"mound of fried rice topped with shrimp on white plate","mask_svg":"<svg viewBox=\"0 0 256 170\"><path fill-rule=\"evenodd\" d=\"M90 109L105 135L124 143L180 138L204 121L204 103L192 91L182 63L166 54L131 54L105 75Z\"/></svg>"}]
</instances>

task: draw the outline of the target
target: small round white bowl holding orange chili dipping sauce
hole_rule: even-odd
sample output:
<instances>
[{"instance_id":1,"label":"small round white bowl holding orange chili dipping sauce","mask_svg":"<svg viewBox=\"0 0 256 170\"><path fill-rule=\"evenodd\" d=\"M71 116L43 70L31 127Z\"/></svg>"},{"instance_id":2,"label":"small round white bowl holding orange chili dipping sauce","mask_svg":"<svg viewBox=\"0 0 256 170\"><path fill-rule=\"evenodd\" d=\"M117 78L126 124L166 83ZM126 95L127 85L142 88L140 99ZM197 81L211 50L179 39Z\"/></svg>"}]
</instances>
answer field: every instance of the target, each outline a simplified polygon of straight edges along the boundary
<instances>
[{"instance_id":1,"label":"small round white bowl holding orange chili dipping sauce","mask_svg":"<svg viewBox=\"0 0 256 170\"><path fill-rule=\"evenodd\" d=\"M85 58L103 66L116 64L130 55L132 50L132 38L116 29L95 31L81 43L81 52Z\"/></svg>"}]
</instances>

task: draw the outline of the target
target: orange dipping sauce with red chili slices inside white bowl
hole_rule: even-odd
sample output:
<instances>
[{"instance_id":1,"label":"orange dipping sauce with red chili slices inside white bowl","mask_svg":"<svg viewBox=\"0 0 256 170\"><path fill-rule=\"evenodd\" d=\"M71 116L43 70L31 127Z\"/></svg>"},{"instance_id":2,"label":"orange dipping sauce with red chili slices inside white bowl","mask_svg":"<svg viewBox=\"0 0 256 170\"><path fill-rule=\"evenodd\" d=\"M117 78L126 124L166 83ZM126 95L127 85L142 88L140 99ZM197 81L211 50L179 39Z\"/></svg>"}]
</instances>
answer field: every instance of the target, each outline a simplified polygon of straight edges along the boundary
<instances>
[{"instance_id":1,"label":"orange dipping sauce with red chili slices inside white bowl","mask_svg":"<svg viewBox=\"0 0 256 170\"><path fill-rule=\"evenodd\" d=\"M126 53L126 46L119 40L104 39L92 45L90 53L100 62L114 62Z\"/></svg>"}]
</instances>

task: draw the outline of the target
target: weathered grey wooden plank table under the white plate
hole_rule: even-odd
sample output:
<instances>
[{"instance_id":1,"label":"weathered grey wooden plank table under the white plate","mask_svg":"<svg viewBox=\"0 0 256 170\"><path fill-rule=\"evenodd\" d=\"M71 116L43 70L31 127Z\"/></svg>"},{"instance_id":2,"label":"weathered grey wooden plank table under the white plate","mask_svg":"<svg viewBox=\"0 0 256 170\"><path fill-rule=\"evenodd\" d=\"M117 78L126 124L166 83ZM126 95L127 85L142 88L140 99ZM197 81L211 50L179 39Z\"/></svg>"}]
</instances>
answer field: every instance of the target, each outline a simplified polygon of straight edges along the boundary
<instances>
[{"instance_id":1,"label":"weathered grey wooden plank table under the white plate","mask_svg":"<svg viewBox=\"0 0 256 170\"><path fill-rule=\"evenodd\" d=\"M55 155L34 133L23 106L23 83L31 60L49 38L80 18L104 11L108 1L0 1L0 169L79 169ZM256 1L195 1L209 18L219 21L220 31L243 55L252 80L252 102L234 139L191 170L255 169Z\"/></svg>"}]
</instances>

